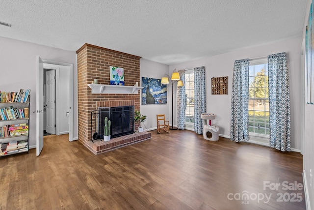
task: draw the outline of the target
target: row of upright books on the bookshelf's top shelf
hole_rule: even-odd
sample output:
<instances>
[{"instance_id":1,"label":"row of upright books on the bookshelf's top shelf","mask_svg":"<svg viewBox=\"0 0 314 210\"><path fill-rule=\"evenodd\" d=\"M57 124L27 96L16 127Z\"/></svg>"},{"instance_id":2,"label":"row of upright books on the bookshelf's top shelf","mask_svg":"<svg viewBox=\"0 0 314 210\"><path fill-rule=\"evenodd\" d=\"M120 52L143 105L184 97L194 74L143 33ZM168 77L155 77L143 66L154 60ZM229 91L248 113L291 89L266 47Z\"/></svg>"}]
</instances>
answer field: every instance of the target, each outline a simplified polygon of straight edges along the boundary
<instances>
[{"instance_id":1,"label":"row of upright books on the bookshelf's top shelf","mask_svg":"<svg viewBox=\"0 0 314 210\"><path fill-rule=\"evenodd\" d=\"M0 103L26 103L29 101L29 93L30 89L25 92L23 89L18 92L1 92L0 90Z\"/></svg>"}]
</instances>

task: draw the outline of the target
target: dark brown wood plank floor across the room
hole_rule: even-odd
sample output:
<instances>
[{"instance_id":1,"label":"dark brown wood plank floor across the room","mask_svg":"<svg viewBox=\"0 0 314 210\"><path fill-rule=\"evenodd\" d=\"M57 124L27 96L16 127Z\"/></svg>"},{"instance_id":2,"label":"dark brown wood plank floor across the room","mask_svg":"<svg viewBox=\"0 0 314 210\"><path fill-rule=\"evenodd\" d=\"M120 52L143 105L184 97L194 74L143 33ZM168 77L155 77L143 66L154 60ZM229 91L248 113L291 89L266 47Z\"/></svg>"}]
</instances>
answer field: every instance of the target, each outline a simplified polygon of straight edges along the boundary
<instances>
[{"instance_id":1,"label":"dark brown wood plank floor across the room","mask_svg":"<svg viewBox=\"0 0 314 210\"><path fill-rule=\"evenodd\" d=\"M305 210L304 191L284 182L303 183L302 158L181 130L97 156L47 136L39 157L0 158L0 209Z\"/></svg>"}]
</instances>

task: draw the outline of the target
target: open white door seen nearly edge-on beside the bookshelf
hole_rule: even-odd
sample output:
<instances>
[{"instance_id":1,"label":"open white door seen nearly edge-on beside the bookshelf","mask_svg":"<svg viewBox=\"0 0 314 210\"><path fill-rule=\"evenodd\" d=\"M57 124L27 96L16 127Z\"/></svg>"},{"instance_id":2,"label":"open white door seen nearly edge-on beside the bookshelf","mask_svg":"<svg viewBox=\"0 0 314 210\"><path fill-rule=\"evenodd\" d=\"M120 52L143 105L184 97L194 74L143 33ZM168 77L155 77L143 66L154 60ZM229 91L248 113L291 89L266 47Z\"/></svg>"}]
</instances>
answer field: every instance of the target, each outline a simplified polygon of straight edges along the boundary
<instances>
[{"instance_id":1,"label":"open white door seen nearly edge-on beside the bookshelf","mask_svg":"<svg viewBox=\"0 0 314 210\"><path fill-rule=\"evenodd\" d=\"M44 62L36 56L36 155L39 156L44 147Z\"/></svg>"}]
</instances>

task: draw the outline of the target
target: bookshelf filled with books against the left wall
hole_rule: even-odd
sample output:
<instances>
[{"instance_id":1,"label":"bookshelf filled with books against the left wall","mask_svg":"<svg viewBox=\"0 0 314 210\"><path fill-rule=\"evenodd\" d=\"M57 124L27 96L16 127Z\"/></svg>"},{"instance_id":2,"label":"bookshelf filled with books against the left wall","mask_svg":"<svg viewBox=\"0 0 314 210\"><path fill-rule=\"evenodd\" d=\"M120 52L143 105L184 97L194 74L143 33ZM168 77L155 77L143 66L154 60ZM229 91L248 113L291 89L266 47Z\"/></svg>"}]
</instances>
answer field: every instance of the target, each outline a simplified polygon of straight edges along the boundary
<instances>
[{"instance_id":1,"label":"bookshelf filled with books against the left wall","mask_svg":"<svg viewBox=\"0 0 314 210\"><path fill-rule=\"evenodd\" d=\"M0 157L29 152L30 94L26 91L0 93ZM15 99L23 93L24 96L21 96L20 100Z\"/></svg>"}]
</instances>

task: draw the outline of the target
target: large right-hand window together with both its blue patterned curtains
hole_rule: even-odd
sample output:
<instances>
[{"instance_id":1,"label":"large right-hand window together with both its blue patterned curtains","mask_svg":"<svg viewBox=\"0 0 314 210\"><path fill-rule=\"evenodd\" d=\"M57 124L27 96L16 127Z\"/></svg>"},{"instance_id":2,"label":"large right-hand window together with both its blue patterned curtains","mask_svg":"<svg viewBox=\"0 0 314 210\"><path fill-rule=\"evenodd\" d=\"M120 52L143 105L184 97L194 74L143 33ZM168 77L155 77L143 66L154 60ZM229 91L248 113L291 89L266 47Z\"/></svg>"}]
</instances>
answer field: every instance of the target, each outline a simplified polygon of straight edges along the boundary
<instances>
[{"instance_id":1,"label":"large right-hand window together with both its blue patterned curtains","mask_svg":"<svg viewBox=\"0 0 314 210\"><path fill-rule=\"evenodd\" d=\"M269 136L269 146L291 150L291 119L286 53L267 62L235 60L230 140L247 141L248 133ZM268 104L268 105L267 105Z\"/></svg>"}]
</instances>

